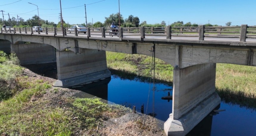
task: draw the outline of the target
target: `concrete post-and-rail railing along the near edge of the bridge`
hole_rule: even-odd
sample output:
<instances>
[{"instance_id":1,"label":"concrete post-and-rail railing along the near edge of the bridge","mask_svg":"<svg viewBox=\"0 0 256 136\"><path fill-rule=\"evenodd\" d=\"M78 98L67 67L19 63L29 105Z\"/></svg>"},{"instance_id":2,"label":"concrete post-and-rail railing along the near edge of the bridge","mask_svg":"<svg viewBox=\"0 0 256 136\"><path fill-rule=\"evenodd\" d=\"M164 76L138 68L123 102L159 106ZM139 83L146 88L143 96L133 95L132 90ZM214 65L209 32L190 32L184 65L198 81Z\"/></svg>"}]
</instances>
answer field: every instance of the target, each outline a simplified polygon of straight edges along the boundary
<instances>
[{"instance_id":1,"label":"concrete post-and-rail railing along the near edge of the bridge","mask_svg":"<svg viewBox=\"0 0 256 136\"><path fill-rule=\"evenodd\" d=\"M63 35L64 37L68 35L68 29L65 28L62 31L62 28L42 28L43 32L33 33L32 28L14 28L15 33L30 33L30 34L46 34L50 35ZM111 32L116 35L111 35L110 30L118 30L118 32ZM8 30L5 30L5 33ZM12 33L12 31L9 31ZM8 32L8 33L9 33ZM74 36L78 35L77 29L72 31L71 33ZM1 30L1 33L4 33ZM60 34L61 33L61 34ZM150 36L160 36L166 37L166 39L172 39L172 37L198 37L199 41L204 41L205 37L211 38L239 38L240 42L245 42L246 38L256 39L256 26L213 26L206 27L205 25L200 25L198 27L121 27L121 28L105 28L105 27L91 27L87 28L86 34L82 33L81 35L87 35L89 37L95 37L96 35L102 38L107 38L107 36L113 36L114 38L123 38L126 35L129 36L138 36L143 41L144 38L150 38Z\"/></svg>"}]
</instances>

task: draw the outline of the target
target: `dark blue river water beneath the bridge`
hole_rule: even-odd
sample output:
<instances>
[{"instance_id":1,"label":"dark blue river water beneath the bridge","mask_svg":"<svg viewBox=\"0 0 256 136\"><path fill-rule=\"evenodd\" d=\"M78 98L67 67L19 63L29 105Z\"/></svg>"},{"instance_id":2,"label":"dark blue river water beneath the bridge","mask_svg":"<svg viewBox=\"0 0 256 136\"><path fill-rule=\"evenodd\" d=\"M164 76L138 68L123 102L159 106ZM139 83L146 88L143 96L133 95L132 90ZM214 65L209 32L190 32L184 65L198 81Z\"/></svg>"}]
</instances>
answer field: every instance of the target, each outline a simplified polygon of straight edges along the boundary
<instances>
[{"instance_id":1,"label":"dark blue river water beneath the bridge","mask_svg":"<svg viewBox=\"0 0 256 136\"><path fill-rule=\"evenodd\" d=\"M151 87L151 89L149 89ZM153 85L137 80L124 80L117 76L90 85L72 88L81 90L77 96L80 98L97 96L106 103L116 103L132 108L136 106L136 111L141 112L141 105L144 104L144 114L146 113L147 101L149 104L147 114L152 114ZM154 113L160 124L168 119L172 112L172 101L162 100L161 97L172 94L172 87L164 84L155 84L154 93ZM251 136L256 135L256 112L250 109L241 108L238 105L231 105L221 102L218 109L225 109L218 114L210 113L202 120L188 135L211 135L211 136ZM140 113L139 113L140 114Z\"/></svg>"}]
</instances>

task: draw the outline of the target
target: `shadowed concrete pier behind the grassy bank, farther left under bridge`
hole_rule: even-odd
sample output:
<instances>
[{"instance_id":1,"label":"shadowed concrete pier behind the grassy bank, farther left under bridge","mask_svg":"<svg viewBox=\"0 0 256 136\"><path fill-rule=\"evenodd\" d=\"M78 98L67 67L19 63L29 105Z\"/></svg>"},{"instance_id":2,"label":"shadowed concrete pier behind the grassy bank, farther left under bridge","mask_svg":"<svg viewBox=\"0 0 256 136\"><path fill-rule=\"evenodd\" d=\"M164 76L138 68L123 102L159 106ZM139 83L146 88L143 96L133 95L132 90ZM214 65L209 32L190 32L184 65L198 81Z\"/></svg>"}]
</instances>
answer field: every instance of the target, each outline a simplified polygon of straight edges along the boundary
<instances>
[{"instance_id":1,"label":"shadowed concrete pier behind the grassy bank, farther left under bridge","mask_svg":"<svg viewBox=\"0 0 256 136\"><path fill-rule=\"evenodd\" d=\"M43 64L56 62L54 47L49 44L11 44L21 64Z\"/></svg>"}]
</instances>

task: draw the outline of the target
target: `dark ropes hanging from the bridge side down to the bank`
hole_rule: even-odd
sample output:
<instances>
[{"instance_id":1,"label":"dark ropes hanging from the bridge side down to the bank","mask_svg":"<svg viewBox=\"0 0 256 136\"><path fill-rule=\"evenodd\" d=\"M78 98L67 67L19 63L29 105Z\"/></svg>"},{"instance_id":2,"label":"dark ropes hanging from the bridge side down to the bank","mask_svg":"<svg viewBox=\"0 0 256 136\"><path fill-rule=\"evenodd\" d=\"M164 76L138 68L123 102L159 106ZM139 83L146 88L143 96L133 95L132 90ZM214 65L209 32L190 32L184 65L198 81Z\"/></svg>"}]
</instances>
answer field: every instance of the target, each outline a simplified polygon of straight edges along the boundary
<instances>
[{"instance_id":1,"label":"dark ropes hanging from the bridge side down to the bank","mask_svg":"<svg viewBox=\"0 0 256 136\"><path fill-rule=\"evenodd\" d=\"M152 49L150 50L152 52L152 63L151 63L151 73L150 73L150 81L149 81L149 94L150 94L150 88L151 88L151 78L152 78L152 71L153 71L153 106L152 106L152 117L154 118L154 93L155 93L155 44L154 46L152 46ZM148 95L148 101L147 101L147 107L146 107L146 113L147 114L147 110L148 110L148 105L149 105L149 95ZM144 116L144 120L143 120L143 126L144 127L146 122L146 116ZM142 130L143 131L143 130ZM142 131L140 132L140 134L142 133ZM140 135L139 134L139 135Z\"/></svg>"}]
</instances>

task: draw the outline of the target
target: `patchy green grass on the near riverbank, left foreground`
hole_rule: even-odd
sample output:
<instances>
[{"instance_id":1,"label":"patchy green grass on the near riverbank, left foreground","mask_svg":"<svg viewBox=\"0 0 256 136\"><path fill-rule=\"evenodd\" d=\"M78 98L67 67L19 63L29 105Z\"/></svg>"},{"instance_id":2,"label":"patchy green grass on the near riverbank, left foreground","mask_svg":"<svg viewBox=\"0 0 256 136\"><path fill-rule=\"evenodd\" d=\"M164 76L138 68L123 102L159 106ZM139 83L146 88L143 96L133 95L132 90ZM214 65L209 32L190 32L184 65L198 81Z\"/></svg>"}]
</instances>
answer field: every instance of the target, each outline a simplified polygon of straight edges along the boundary
<instances>
[{"instance_id":1,"label":"patchy green grass on the near riverbank, left foreground","mask_svg":"<svg viewBox=\"0 0 256 136\"><path fill-rule=\"evenodd\" d=\"M98 122L130 112L99 98L62 97L68 92L52 88L47 78L23 76L15 55L0 53L0 135L99 135Z\"/></svg>"}]
</instances>

